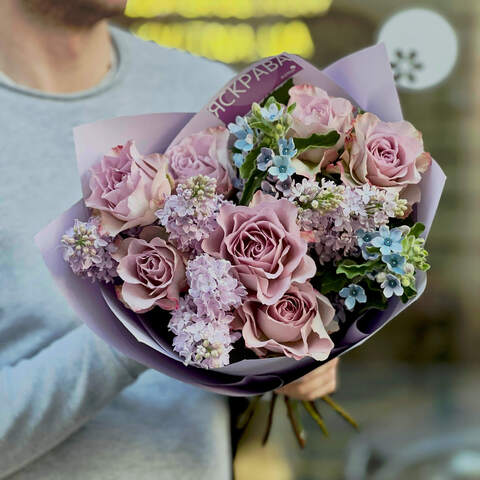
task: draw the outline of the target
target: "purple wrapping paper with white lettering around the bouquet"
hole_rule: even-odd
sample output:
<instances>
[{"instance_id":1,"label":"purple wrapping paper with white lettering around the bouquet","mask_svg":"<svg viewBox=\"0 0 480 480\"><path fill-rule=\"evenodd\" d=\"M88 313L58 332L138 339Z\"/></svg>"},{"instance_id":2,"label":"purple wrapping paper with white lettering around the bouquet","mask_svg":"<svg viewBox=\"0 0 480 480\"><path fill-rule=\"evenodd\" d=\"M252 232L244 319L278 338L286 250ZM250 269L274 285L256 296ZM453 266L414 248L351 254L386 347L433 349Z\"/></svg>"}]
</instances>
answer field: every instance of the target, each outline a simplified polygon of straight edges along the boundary
<instances>
[{"instance_id":1,"label":"purple wrapping paper with white lettering around the bouquet","mask_svg":"<svg viewBox=\"0 0 480 480\"><path fill-rule=\"evenodd\" d=\"M112 146L135 139L139 150L163 152L172 142L210 126L223 125L247 113L254 101L261 101L288 78L295 84L311 83L330 95L349 98L362 109L385 121L402 119L401 107L383 45L345 57L323 72L300 57L281 54L249 66L232 79L199 113L150 114L119 117L82 125L74 130L78 169L84 197L88 195L88 170ZM434 161L424 175L422 201L417 219L428 235L445 183L445 175ZM243 360L227 367L204 370L186 367L171 345L157 335L148 316L139 317L126 309L111 287L91 284L75 276L58 248L61 235L75 218L85 220L88 211L80 200L50 223L36 237L45 262L76 314L113 348L140 363L187 383L227 395L264 393L299 378L320 363L306 358L286 357ZM426 276L417 274L418 296L408 304L390 302L384 312L371 311L357 319L337 342L330 359L369 339L424 291ZM168 321L165 312L165 322ZM156 321L163 319L157 317Z\"/></svg>"}]
</instances>

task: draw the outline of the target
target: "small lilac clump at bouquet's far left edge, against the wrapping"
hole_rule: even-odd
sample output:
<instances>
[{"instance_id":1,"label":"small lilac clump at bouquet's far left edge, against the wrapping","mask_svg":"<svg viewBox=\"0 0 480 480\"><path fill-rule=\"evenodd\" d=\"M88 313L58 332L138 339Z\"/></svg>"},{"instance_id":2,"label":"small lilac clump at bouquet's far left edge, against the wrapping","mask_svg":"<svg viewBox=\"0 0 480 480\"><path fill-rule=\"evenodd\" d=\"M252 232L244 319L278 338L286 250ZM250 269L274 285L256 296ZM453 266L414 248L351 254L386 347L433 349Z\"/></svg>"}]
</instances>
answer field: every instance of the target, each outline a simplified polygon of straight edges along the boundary
<instances>
[{"instance_id":1,"label":"small lilac clump at bouquet's far left edge, against the wrapping","mask_svg":"<svg viewBox=\"0 0 480 480\"><path fill-rule=\"evenodd\" d=\"M100 234L99 227L99 217L90 217L87 222L76 219L62 236L63 258L75 275L109 283L118 276L118 263L111 255L116 247L111 237Z\"/></svg>"}]
</instances>

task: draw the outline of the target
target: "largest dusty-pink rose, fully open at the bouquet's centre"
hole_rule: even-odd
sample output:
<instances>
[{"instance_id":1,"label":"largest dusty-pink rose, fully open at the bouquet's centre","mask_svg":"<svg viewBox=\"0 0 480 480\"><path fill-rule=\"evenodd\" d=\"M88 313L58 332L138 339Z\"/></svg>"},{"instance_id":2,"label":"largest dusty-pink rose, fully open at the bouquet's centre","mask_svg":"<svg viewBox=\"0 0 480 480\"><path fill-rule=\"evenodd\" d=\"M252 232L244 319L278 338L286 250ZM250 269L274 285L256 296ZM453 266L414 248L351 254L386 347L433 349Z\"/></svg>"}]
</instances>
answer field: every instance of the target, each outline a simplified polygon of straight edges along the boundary
<instances>
[{"instance_id":1,"label":"largest dusty-pink rose, fully open at the bouquet's centre","mask_svg":"<svg viewBox=\"0 0 480 480\"><path fill-rule=\"evenodd\" d=\"M272 305L292 282L303 283L315 275L315 262L307 256L296 219L291 202L258 191L249 207L223 205L218 227L202 247L228 260L249 294Z\"/></svg>"}]
</instances>

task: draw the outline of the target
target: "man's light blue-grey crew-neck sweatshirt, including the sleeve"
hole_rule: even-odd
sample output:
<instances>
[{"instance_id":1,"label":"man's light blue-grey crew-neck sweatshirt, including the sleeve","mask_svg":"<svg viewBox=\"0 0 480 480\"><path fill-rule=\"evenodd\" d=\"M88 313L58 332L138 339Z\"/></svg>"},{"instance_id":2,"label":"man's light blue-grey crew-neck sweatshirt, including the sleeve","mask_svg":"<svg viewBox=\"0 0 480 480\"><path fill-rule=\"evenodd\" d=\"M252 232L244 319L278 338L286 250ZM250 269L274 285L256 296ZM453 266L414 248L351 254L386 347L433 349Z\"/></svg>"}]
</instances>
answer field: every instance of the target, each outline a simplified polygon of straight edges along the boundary
<instances>
[{"instance_id":1,"label":"man's light blue-grey crew-neck sweatshirt, including the sleeve","mask_svg":"<svg viewBox=\"0 0 480 480\"><path fill-rule=\"evenodd\" d=\"M58 293L34 235L80 198L72 128L196 111L228 67L112 29L117 69L51 95L0 79L0 479L225 479L225 399L120 356ZM135 382L135 383L134 383Z\"/></svg>"}]
</instances>

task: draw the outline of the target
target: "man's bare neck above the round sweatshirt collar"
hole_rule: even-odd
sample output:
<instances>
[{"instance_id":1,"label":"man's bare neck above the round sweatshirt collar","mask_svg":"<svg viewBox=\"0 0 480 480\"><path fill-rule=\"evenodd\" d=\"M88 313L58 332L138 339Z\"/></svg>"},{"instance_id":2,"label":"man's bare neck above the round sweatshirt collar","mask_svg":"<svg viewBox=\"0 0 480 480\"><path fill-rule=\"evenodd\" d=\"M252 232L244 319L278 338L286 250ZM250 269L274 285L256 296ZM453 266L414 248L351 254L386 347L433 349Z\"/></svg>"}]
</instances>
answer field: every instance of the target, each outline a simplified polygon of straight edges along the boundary
<instances>
[{"instance_id":1,"label":"man's bare neck above the round sweatshirt collar","mask_svg":"<svg viewBox=\"0 0 480 480\"><path fill-rule=\"evenodd\" d=\"M16 0L1 0L0 71L14 82L50 93L97 85L110 68L107 23L75 29L42 22ZM6 11L5 11L6 10Z\"/></svg>"}]
</instances>

